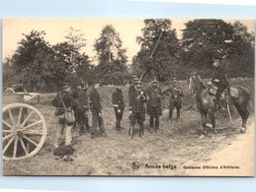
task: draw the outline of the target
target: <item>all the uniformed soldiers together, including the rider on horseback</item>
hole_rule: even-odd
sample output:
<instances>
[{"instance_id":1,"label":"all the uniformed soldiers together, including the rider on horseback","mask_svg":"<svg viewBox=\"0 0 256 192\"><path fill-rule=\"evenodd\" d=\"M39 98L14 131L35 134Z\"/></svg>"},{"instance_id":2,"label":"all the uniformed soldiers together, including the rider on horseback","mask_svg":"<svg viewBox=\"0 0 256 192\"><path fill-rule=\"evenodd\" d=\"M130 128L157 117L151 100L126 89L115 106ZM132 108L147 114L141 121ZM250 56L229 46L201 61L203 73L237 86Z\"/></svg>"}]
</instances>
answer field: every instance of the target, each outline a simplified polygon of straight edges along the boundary
<instances>
[{"instance_id":1,"label":"all the uniformed soldiers together, including the rider on horseback","mask_svg":"<svg viewBox=\"0 0 256 192\"><path fill-rule=\"evenodd\" d=\"M212 83L217 86L216 98L218 103L219 96L224 88L229 88L226 80L225 72L221 70L220 63L214 62L215 71L213 73ZM139 137L143 138L145 114L149 115L149 124L151 133L157 133L159 130L159 116L162 115L161 100L164 96L169 99L169 118L173 117L173 111L177 110L177 119L180 118L180 109L182 107L183 91L177 85L177 79L172 78L172 84L164 90L161 90L159 82L156 78L149 84L147 88L142 88L141 81L132 76L132 84L128 88L128 119L130 122L128 129L128 139L132 139L134 135L134 125L139 125ZM57 148L60 144L62 134L65 138L65 146L71 145L72 129L79 127L79 133L84 134L86 130L91 133L91 138L97 136L99 127L101 136L107 137L104 127L103 106L101 96L99 94L100 84L94 82L91 84L89 92L88 83L82 82L76 90L71 90L70 82L64 81L62 91L56 95L51 103L56 107L55 115L58 120L58 128L54 147ZM88 93L89 92L89 93ZM112 93L112 104L116 116L116 130L121 132L121 122L123 119L126 103L124 100L121 84L115 85L115 90ZM88 112L92 113L92 125L88 123ZM74 122L66 120L66 111L74 111Z\"/></svg>"}]
</instances>

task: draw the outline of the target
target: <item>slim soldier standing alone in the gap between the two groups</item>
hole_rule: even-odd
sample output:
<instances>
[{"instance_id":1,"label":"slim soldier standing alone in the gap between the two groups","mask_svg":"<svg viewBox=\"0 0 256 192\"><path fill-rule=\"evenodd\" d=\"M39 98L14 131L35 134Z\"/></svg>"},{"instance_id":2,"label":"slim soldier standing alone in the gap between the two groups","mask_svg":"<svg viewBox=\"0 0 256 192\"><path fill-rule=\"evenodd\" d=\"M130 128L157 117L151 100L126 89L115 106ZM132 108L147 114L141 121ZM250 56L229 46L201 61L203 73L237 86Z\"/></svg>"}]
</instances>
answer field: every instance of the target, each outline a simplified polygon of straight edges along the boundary
<instances>
[{"instance_id":1,"label":"slim soldier standing alone in the gap between the two groups","mask_svg":"<svg viewBox=\"0 0 256 192\"><path fill-rule=\"evenodd\" d=\"M125 101L123 91L120 84L116 84L116 88L112 94L112 103L116 115L116 130L118 133L121 132L121 120L123 118L123 111L125 109Z\"/></svg>"}]
</instances>

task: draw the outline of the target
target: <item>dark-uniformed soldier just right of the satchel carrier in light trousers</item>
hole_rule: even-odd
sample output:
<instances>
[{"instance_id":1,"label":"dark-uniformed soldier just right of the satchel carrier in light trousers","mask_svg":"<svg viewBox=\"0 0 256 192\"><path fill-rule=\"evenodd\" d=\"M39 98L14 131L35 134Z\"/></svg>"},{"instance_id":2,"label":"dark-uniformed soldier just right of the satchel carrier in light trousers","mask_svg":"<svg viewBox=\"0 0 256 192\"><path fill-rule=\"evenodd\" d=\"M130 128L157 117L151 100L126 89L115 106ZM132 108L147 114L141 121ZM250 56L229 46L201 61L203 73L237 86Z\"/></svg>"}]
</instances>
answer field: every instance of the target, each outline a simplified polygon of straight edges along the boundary
<instances>
[{"instance_id":1,"label":"dark-uniformed soldier just right of the satchel carrier in light trousers","mask_svg":"<svg viewBox=\"0 0 256 192\"><path fill-rule=\"evenodd\" d=\"M78 112L79 112L78 119L79 119L79 125L80 125L80 130L79 130L80 135L85 133L85 127L86 127L86 130L90 129L90 126L88 123L88 115L87 115L89 110L87 90L88 90L88 84L82 81L81 90L78 91Z\"/></svg>"}]
</instances>

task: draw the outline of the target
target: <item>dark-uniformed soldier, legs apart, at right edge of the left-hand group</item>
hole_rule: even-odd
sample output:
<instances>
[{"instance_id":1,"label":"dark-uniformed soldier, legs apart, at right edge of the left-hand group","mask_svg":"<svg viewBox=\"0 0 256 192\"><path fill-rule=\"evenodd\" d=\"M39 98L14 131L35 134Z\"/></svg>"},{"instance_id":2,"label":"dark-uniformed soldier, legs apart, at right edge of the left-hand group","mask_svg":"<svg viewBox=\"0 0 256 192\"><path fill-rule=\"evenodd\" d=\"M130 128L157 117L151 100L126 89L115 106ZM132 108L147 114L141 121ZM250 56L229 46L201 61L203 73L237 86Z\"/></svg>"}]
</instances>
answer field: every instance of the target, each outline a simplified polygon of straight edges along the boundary
<instances>
[{"instance_id":1,"label":"dark-uniformed soldier, legs apart, at right edge of the left-hand group","mask_svg":"<svg viewBox=\"0 0 256 192\"><path fill-rule=\"evenodd\" d=\"M91 138L94 139L97 131L97 127L99 126L101 135L103 137L107 137L104 128L104 121L102 116L102 104L101 104L101 96L98 92L100 84L94 83L93 88L91 90L89 99L90 99L90 108L93 115L93 122L91 128Z\"/></svg>"}]
</instances>

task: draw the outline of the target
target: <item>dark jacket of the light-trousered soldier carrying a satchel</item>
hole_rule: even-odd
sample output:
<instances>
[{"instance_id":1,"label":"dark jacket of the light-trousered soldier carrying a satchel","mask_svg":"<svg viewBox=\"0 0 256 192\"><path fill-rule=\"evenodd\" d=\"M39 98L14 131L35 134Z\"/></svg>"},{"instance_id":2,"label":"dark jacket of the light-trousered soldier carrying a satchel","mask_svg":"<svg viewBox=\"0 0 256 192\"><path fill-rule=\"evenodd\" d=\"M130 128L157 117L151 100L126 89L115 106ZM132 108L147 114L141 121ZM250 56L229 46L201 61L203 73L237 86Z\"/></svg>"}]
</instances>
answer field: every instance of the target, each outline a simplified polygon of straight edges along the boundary
<instances>
[{"instance_id":1,"label":"dark jacket of the light-trousered soldier carrying a satchel","mask_svg":"<svg viewBox=\"0 0 256 192\"><path fill-rule=\"evenodd\" d=\"M61 97L66 108L73 109L76 106L76 101L74 100L73 96L70 96L69 93L61 92L51 100L51 104L57 108L56 115L61 115L65 112Z\"/></svg>"}]
</instances>

